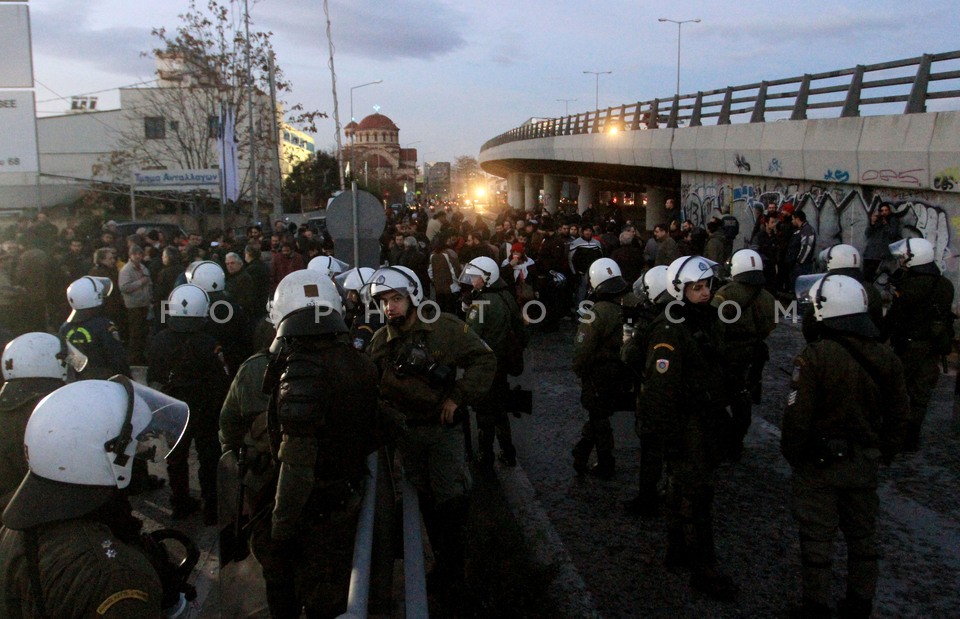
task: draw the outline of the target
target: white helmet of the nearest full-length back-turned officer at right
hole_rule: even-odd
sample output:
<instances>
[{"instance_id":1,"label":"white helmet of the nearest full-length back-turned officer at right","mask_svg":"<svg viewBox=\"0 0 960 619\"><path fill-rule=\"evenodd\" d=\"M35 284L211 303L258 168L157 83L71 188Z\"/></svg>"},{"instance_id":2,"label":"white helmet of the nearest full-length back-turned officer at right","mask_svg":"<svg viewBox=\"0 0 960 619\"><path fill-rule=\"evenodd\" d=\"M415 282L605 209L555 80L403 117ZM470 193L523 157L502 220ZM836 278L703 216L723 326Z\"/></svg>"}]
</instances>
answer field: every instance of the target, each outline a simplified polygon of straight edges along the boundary
<instances>
[{"instance_id":1,"label":"white helmet of the nearest full-length back-turned officer at right","mask_svg":"<svg viewBox=\"0 0 960 619\"><path fill-rule=\"evenodd\" d=\"M868 337L879 335L867 314L867 291L854 278L827 273L813 283L807 298L813 304L813 316L817 322Z\"/></svg>"}]
</instances>

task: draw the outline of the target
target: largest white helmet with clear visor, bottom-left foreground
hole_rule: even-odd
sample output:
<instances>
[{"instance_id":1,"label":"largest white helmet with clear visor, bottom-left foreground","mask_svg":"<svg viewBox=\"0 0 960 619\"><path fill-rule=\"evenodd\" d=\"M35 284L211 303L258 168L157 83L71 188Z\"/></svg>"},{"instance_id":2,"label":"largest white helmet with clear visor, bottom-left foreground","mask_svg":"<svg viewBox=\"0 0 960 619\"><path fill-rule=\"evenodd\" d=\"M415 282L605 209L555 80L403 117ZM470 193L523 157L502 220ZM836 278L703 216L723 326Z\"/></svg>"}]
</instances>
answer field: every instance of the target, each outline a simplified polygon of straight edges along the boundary
<instances>
[{"instance_id":1,"label":"largest white helmet with clear visor, bottom-left foreground","mask_svg":"<svg viewBox=\"0 0 960 619\"><path fill-rule=\"evenodd\" d=\"M30 470L3 523L23 530L90 513L130 484L137 453L165 458L188 418L185 403L124 376L57 389L27 422Z\"/></svg>"}]
</instances>

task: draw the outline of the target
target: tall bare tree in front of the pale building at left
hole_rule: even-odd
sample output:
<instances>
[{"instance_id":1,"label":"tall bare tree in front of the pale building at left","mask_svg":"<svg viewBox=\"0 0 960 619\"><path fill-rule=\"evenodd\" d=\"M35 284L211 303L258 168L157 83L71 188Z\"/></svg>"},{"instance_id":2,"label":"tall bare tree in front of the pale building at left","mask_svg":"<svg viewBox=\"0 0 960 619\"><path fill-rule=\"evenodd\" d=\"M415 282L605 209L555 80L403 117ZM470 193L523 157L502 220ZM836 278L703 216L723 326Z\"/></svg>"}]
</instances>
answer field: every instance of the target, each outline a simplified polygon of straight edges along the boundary
<instances>
[{"instance_id":1,"label":"tall bare tree in front of the pale building at left","mask_svg":"<svg viewBox=\"0 0 960 619\"><path fill-rule=\"evenodd\" d=\"M129 178L135 168L203 169L217 167L217 132L223 107L234 111L239 143L241 199L250 194L250 148L245 139L248 126L246 45L243 3L239 0L208 0L205 5L190 0L172 31L154 28L158 45L144 56L158 61L158 85L125 89L125 122L116 136L117 149L103 162L118 180ZM252 25L251 21L251 25ZM269 88L269 58L272 33L250 31L250 62L257 171L260 178L275 179L277 139L271 123L279 123L277 108L291 90L283 71L274 69L278 106L273 108ZM126 105L129 103L130 105ZM320 112L289 108L291 124L315 131ZM275 137L277 136L277 137Z\"/></svg>"}]
</instances>

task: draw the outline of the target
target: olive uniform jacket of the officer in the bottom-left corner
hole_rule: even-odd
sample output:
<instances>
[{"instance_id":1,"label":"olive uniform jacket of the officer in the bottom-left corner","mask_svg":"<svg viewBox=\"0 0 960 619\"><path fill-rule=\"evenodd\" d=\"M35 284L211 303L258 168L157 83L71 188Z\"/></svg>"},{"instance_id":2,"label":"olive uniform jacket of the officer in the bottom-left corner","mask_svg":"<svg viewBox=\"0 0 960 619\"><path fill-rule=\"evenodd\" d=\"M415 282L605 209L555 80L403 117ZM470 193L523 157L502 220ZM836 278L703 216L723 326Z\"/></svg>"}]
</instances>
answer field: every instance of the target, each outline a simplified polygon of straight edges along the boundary
<instances>
[{"instance_id":1,"label":"olive uniform jacket of the officer in the bottom-left corner","mask_svg":"<svg viewBox=\"0 0 960 619\"><path fill-rule=\"evenodd\" d=\"M22 531L0 529L0 616L37 616ZM86 519L39 527L38 557L47 617L157 619L162 587L147 556L106 525Z\"/></svg>"}]
</instances>

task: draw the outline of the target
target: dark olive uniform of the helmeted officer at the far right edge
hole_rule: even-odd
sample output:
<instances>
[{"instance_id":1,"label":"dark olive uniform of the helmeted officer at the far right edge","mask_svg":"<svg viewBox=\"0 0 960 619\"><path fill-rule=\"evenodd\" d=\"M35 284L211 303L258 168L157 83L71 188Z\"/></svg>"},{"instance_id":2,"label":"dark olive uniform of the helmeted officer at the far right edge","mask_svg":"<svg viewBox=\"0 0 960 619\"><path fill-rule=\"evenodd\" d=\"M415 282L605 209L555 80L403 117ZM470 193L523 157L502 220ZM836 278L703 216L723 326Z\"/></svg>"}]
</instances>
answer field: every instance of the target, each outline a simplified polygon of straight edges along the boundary
<instances>
[{"instance_id":1,"label":"dark olive uniform of the helmeted officer at the far right edge","mask_svg":"<svg viewBox=\"0 0 960 619\"><path fill-rule=\"evenodd\" d=\"M933 265L922 267L936 269ZM939 272L918 272L922 267L909 269L897 282L893 304L881 330L883 336L890 337L903 363L911 410L904 449L911 451L920 444L930 394L940 377L940 357L950 352L949 342L945 348L938 348L934 323L945 325L953 320L953 284Z\"/></svg>"}]
</instances>

